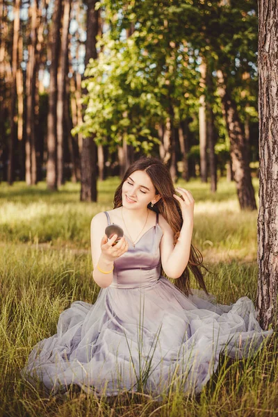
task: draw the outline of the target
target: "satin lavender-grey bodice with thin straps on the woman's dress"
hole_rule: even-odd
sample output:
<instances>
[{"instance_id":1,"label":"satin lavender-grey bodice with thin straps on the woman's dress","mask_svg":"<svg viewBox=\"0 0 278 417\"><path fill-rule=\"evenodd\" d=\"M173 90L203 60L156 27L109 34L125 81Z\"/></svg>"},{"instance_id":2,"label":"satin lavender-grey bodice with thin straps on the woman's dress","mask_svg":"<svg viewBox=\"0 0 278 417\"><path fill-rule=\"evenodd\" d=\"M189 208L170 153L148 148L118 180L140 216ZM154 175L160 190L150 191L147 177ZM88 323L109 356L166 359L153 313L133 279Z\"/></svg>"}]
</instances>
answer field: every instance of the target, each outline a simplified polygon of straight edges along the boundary
<instances>
[{"instance_id":1,"label":"satin lavender-grey bodice with thin straps on the woman's dress","mask_svg":"<svg viewBox=\"0 0 278 417\"><path fill-rule=\"evenodd\" d=\"M107 211L108 224L111 220ZM159 244L163 231L158 224L158 213L156 213L156 224L140 237L133 247L129 241L129 249L120 258L114 261L113 282L114 288L138 288L152 286L161 275L161 256Z\"/></svg>"}]
</instances>

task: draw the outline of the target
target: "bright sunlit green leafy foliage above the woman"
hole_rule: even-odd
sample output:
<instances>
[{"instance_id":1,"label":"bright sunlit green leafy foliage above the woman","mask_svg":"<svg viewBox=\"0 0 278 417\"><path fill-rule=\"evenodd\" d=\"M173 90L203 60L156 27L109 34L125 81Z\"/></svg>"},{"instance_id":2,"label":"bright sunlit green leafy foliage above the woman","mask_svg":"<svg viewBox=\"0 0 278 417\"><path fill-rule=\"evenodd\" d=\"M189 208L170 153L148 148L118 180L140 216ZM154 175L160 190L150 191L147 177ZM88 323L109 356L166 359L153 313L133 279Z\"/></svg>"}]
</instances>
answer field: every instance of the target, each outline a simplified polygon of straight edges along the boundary
<instances>
[{"instance_id":1,"label":"bright sunlit green leafy foliage above the woman","mask_svg":"<svg viewBox=\"0 0 278 417\"><path fill-rule=\"evenodd\" d=\"M242 122L257 124L256 1L102 0L107 30L99 40L99 58L90 60L83 86L82 131L111 150L122 140L147 154L157 147L158 126L174 126L197 116L199 96L213 104L221 158L229 146L217 92L216 71L238 104ZM132 31L131 31L132 28ZM129 36L126 33L129 32ZM200 85L199 65L206 59L213 93ZM195 117L197 120L197 117ZM197 144L198 124L194 126Z\"/></svg>"}]
</instances>

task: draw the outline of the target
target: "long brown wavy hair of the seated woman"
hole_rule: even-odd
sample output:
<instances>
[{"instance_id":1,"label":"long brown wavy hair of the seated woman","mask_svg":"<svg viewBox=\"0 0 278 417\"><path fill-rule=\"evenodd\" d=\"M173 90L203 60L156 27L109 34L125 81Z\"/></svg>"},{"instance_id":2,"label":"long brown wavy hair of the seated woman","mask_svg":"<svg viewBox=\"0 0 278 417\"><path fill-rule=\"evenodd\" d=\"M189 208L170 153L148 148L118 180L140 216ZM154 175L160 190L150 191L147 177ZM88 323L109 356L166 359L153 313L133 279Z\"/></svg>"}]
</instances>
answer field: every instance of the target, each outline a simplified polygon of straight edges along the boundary
<instances>
[{"instance_id":1,"label":"long brown wavy hair of the seated woman","mask_svg":"<svg viewBox=\"0 0 278 417\"><path fill-rule=\"evenodd\" d=\"M132 172L135 171L145 171L152 180L156 194L161 195L161 199L156 202L154 207L151 207L151 204L149 203L148 208L152 211L161 213L167 223L170 224L170 227L174 231L174 245L176 245L183 224L181 208L179 206L179 202L173 197L175 190L170 172L167 166L158 158L142 156L128 167L120 186L118 186L115 190L113 208L122 206L122 185ZM206 269L203 265L203 256L201 252L199 252L199 250L191 244L188 265L181 274L181 277L174 279L174 285L186 295L192 293L190 291L191 271L195 277L197 285L202 288L206 294L208 294L206 284L204 283L202 268ZM165 276L162 265L161 270Z\"/></svg>"}]
</instances>

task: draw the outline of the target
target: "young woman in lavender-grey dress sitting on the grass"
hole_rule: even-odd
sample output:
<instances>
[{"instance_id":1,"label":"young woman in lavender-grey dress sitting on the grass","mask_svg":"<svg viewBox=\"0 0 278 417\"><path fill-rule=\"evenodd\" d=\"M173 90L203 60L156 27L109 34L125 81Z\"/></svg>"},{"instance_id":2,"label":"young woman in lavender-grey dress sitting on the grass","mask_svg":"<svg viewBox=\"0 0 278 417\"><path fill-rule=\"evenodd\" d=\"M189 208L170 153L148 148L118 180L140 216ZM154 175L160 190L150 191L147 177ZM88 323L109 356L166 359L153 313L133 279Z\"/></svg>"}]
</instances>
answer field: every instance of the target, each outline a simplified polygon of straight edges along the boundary
<instances>
[{"instance_id":1,"label":"young woman in lavender-grey dress sitting on the grass","mask_svg":"<svg viewBox=\"0 0 278 417\"><path fill-rule=\"evenodd\" d=\"M115 191L113 210L91 222L95 304L74 302L61 313L57 334L35 346L25 372L56 391L77 384L97 395L170 386L198 392L218 366L220 352L245 357L263 332L252 301L231 306L209 298L202 255L191 245L194 199L174 189L167 167L140 158ZM106 236L108 224L124 236ZM202 291L190 289L193 275ZM172 284L168 278L174 279Z\"/></svg>"}]
</instances>

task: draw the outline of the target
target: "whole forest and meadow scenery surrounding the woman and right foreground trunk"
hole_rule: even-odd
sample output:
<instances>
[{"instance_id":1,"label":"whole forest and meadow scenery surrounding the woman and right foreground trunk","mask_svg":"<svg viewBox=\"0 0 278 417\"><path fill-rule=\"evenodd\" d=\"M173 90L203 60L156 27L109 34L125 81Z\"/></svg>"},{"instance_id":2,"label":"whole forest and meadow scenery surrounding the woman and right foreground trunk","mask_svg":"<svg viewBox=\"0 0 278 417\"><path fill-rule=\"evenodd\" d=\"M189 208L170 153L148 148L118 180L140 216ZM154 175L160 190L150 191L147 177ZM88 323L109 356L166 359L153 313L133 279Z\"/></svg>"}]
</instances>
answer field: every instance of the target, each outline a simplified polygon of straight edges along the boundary
<instances>
[{"instance_id":1,"label":"whole forest and meadow scenery surrounding the woman and right foreground trunk","mask_svg":"<svg viewBox=\"0 0 278 417\"><path fill-rule=\"evenodd\" d=\"M49 398L20 375L72 301L95 302L90 220L142 154L195 197L208 291L255 302L256 1L0 0L0 24L1 415L276 416L275 338L162 405Z\"/></svg>"}]
</instances>

